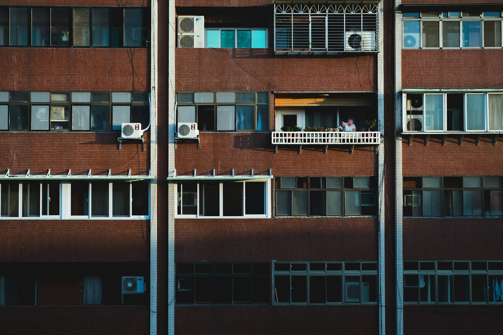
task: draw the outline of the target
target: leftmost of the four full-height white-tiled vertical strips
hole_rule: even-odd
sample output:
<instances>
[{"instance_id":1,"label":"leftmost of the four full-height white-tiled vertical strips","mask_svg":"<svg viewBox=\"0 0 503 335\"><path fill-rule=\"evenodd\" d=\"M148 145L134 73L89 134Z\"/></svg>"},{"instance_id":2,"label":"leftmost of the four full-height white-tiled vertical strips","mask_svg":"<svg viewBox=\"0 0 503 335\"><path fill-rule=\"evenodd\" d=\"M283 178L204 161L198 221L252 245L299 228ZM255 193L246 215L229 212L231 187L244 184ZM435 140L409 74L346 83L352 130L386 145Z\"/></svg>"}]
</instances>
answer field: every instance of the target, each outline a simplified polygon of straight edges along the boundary
<instances>
[{"instance_id":1,"label":"leftmost of the four full-height white-tiled vertical strips","mask_svg":"<svg viewBox=\"0 0 503 335\"><path fill-rule=\"evenodd\" d=\"M150 173L157 176L157 1L150 3ZM150 180L150 335L157 334L157 179Z\"/></svg>"}]
</instances>

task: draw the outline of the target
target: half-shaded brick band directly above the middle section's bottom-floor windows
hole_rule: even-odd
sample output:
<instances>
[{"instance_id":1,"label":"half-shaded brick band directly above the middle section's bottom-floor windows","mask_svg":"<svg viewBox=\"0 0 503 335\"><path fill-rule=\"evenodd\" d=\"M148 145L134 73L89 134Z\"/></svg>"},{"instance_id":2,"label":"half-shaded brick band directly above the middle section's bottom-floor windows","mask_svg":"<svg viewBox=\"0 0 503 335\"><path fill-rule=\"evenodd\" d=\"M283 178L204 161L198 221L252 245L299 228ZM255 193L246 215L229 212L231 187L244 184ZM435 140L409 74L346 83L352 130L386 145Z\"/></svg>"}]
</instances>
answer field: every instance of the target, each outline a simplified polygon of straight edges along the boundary
<instances>
[{"instance_id":1,"label":"half-shaded brick band directly above the middle section's bottom-floor windows","mask_svg":"<svg viewBox=\"0 0 503 335\"><path fill-rule=\"evenodd\" d=\"M176 262L376 261L377 219L176 219Z\"/></svg>"}]
</instances>

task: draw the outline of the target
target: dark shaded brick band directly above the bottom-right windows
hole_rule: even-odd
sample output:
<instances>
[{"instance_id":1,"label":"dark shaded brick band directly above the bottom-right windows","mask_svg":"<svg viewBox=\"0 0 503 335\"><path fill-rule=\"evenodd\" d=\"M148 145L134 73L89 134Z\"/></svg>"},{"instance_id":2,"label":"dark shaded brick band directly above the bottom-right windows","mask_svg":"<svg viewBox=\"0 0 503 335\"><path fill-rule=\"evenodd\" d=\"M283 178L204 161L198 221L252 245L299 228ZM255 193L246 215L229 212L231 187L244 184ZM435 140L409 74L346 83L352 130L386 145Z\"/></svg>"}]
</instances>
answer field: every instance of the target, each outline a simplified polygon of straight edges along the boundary
<instances>
[{"instance_id":1,"label":"dark shaded brick band directly above the bottom-right windows","mask_svg":"<svg viewBox=\"0 0 503 335\"><path fill-rule=\"evenodd\" d=\"M502 260L501 218L404 218L403 259Z\"/></svg>"}]
</instances>

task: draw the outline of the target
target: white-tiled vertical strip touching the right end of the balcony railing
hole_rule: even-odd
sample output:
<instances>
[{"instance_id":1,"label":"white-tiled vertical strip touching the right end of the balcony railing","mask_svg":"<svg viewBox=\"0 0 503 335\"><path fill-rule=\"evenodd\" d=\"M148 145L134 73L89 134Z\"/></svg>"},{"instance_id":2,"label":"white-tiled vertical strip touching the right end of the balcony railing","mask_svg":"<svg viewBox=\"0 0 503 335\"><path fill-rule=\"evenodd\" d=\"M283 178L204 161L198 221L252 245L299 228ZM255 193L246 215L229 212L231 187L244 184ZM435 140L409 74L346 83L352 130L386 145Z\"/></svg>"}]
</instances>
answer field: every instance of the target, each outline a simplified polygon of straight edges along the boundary
<instances>
[{"instance_id":1,"label":"white-tiled vertical strip touching the right end of the balcony railing","mask_svg":"<svg viewBox=\"0 0 503 335\"><path fill-rule=\"evenodd\" d=\"M377 53L377 119L378 127L381 136L384 136L384 29L383 29L383 2L379 2L378 8L379 19L379 52ZM378 217L378 261L379 261L379 335L386 333L386 310L385 310L385 225L384 225L384 141L381 137L381 144L377 153L377 173L378 173L378 203L379 203L379 217Z\"/></svg>"}]
</instances>

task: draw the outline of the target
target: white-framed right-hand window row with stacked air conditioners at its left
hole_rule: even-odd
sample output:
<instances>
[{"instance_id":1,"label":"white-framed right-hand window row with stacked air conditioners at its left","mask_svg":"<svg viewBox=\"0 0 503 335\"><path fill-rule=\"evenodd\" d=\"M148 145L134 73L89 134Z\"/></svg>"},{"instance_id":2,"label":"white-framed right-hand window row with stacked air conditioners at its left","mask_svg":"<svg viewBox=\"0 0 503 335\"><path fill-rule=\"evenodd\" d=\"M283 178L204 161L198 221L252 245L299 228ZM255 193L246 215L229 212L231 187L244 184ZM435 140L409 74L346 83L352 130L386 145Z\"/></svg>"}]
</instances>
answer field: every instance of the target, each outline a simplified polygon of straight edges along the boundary
<instances>
[{"instance_id":1,"label":"white-framed right-hand window row with stacked air conditioners at its left","mask_svg":"<svg viewBox=\"0 0 503 335\"><path fill-rule=\"evenodd\" d=\"M503 130L503 93L404 93L404 131Z\"/></svg>"}]
</instances>

